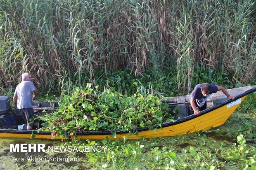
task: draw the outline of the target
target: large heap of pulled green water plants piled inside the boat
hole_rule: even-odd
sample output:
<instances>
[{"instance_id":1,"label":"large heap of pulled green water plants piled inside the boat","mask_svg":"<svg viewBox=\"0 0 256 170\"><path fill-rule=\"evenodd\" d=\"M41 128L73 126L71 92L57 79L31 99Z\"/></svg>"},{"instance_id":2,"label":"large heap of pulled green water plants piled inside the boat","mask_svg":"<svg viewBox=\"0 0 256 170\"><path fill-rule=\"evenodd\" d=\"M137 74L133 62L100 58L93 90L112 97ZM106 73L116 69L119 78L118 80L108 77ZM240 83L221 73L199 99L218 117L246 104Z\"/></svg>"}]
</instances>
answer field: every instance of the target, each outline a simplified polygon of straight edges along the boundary
<instances>
[{"instance_id":1,"label":"large heap of pulled green water plants piled inside the boat","mask_svg":"<svg viewBox=\"0 0 256 170\"><path fill-rule=\"evenodd\" d=\"M40 130L52 130L53 136L60 137L99 130L111 130L113 137L116 130L138 135L137 128L155 131L154 125L173 121L175 112L177 109L170 111L168 104L153 95L128 97L110 89L100 92L97 86L87 84L84 89L77 87L72 97L66 95L55 112L40 116Z\"/></svg>"}]
</instances>

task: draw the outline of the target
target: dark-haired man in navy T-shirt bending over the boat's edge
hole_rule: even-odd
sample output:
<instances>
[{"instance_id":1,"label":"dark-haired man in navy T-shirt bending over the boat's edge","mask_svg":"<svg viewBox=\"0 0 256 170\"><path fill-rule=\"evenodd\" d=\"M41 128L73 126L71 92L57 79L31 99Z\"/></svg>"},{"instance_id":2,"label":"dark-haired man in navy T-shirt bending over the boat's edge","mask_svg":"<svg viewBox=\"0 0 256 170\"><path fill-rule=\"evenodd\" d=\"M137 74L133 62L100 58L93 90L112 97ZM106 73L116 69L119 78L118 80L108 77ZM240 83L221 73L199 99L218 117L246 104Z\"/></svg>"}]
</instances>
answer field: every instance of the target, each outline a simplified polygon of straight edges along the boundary
<instances>
[{"instance_id":1,"label":"dark-haired man in navy T-shirt bending over the boat's edge","mask_svg":"<svg viewBox=\"0 0 256 170\"><path fill-rule=\"evenodd\" d=\"M231 96L228 91L223 86L217 86L213 84L197 84L194 87L194 90L190 94L190 109L193 109L195 115L206 109L206 100L212 94L216 93L218 90L221 90L228 99L234 100L235 97ZM198 107L198 110L197 110Z\"/></svg>"}]
</instances>

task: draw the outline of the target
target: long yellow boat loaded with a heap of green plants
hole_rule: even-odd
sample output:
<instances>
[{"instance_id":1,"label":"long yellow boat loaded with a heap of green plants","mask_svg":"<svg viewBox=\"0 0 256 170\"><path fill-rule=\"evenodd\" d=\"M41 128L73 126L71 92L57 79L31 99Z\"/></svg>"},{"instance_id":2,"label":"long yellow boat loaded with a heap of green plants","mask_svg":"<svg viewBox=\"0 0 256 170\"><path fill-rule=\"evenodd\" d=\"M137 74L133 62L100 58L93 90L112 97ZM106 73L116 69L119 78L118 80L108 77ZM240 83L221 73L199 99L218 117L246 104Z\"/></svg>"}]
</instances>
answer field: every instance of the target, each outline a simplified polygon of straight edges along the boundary
<instances>
[{"instance_id":1,"label":"long yellow boat loaded with a heap of green plants","mask_svg":"<svg viewBox=\"0 0 256 170\"><path fill-rule=\"evenodd\" d=\"M123 136L128 139L140 139L142 137L167 137L182 135L187 133L193 133L200 130L210 129L212 127L217 127L225 123L225 121L230 117L230 115L235 111L237 106L244 100L244 98L256 91L256 86L246 86L240 88L232 88L228 90L230 95L235 96L235 100L228 100L226 95L222 91L213 93L207 100L207 109L202 111L199 116L194 114L188 115L190 110L188 109L190 104L190 96L180 96L168 98L164 101L170 105L170 107L178 107L178 119L172 122L162 123L161 127L155 125L157 128L156 132L154 130L149 130L148 128L138 128L138 135L129 136L128 133L123 133L121 130L116 131L116 138L112 137L111 131L83 131L81 134L76 136L76 139L89 139L89 140L102 140L105 137L108 139L123 139ZM38 105L41 105L37 103ZM57 105L57 104L55 104ZM36 108L35 108L36 109ZM33 133L33 138L39 139L52 139L51 131L36 131L36 130L14 130L14 129L0 129L0 137L24 137L31 138ZM70 136L73 138L75 136ZM61 139L59 136L55 136L55 139Z\"/></svg>"}]
</instances>

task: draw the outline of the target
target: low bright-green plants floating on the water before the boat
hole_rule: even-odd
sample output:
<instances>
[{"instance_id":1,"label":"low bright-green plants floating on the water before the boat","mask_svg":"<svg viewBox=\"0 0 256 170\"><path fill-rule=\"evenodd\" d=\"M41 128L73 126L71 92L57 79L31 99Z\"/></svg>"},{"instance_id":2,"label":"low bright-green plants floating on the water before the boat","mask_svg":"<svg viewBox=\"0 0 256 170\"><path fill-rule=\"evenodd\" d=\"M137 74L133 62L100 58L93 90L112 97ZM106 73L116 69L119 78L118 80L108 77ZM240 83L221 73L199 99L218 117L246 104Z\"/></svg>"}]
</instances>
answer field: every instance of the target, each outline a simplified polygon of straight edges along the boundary
<instances>
[{"instance_id":1,"label":"low bright-green plants floating on the water before the boat","mask_svg":"<svg viewBox=\"0 0 256 170\"><path fill-rule=\"evenodd\" d=\"M176 137L178 140L182 136ZM199 137L192 137L194 141L199 140ZM201 137L204 141L211 141L212 138L204 134ZM163 142L163 143L162 143ZM93 163L93 169L203 169L214 170L224 168L228 161L233 163L240 163L242 159L242 166L239 168L247 169L249 166L255 169L256 148L246 147L246 140L242 135L237 136L236 146L234 143L230 149L223 148L223 142L220 146L214 149L203 150L195 149L190 146L187 149L179 149L174 143L178 141L167 141L167 138L157 139L143 139L137 142L103 140L102 143L108 146L108 151L102 153L90 153L88 161ZM72 142L71 142L72 143ZM77 143L81 146L81 143ZM133 143L133 144L132 144ZM100 145L100 142L90 142L90 145ZM145 147L147 145L147 147ZM146 150L146 152L145 152ZM176 154L175 154L176 153ZM235 165L237 166L237 165ZM233 168L235 167L233 165ZM230 166L232 167L232 166Z\"/></svg>"}]
</instances>

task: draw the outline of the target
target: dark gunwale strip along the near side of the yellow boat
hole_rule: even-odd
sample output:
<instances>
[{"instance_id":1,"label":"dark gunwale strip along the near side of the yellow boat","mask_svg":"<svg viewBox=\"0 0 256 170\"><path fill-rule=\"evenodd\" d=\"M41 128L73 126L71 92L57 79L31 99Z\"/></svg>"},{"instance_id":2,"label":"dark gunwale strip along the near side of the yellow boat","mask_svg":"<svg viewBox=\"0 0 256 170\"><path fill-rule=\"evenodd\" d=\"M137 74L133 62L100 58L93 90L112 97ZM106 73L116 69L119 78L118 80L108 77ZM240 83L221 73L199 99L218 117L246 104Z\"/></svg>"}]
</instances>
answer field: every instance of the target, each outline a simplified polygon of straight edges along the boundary
<instances>
[{"instance_id":1,"label":"dark gunwale strip along the near side of the yellow boat","mask_svg":"<svg viewBox=\"0 0 256 170\"><path fill-rule=\"evenodd\" d=\"M250 93L253 93L254 91L256 91L256 86L251 86L252 88L245 91L244 93L241 93L239 95L236 95L235 96L235 99L234 100L225 100L217 105L214 105L212 107L209 107L208 109L205 109L203 111L200 112L200 115L199 116L202 116L204 114L207 114L215 109L218 109L220 107L223 107L227 104L229 104L230 102L233 102L239 98L242 98ZM234 88L233 88L234 89ZM194 119L194 118L197 118L199 116L196 116L194 114L190 115L190 116L186 116L184 118L180 118L180 119L177 119L177 120L174 120L174 121L170 121L170 122L166 122L166 123L161 123L160 125L154 125L153 126L153 129L155 128L165 128L165 127L169 127L169 126L173 126L173 125L177 125L177 124L180 124L180 123L183 123L185 121L189 121L191 119ZM147 130L153 130L153 129L149 129L147 127L145 128L137 128L136 130L138 132L142 132L142 131L147 131ZM45 131L45 130L10 130L10 129L0 129L0 133L19 133L19 134L35 134L35 135L51 135L52 131ZM128 133L128 132L123 132L121 129L119 130L116 130L116 134L124 134L124 133ZM111 135L112 134L112 131L111 130L100 130L100 131L97 131L97 132L93 132L93 131L83 131L82 133L78 133L76 135Z\"/></svg>"}]
</instances>

